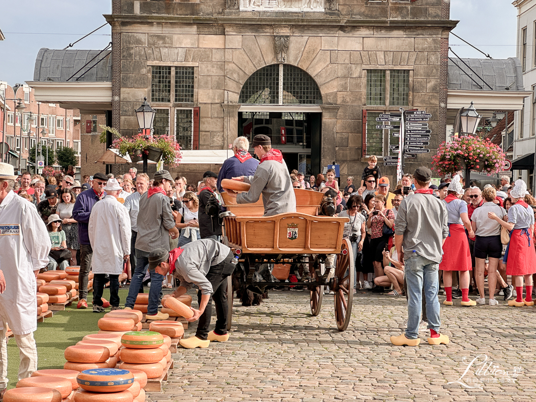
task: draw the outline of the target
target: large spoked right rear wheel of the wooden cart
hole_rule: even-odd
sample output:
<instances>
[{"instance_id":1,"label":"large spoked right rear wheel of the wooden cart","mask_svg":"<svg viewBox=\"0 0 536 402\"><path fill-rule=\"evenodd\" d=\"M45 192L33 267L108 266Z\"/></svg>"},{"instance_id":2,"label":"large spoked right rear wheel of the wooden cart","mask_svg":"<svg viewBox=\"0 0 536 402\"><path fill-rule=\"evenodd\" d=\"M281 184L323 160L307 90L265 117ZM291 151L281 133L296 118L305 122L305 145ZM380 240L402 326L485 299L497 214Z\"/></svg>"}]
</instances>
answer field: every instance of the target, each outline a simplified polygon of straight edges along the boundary
<instances>
[{"instance_id":1,"label":"large spoked right rear wheel of the wooden cart","mask_svg":"<svg viewBox=\"0 0 536 402\"><path fill-rule=\"evenodd\" d=\"M335 292L335 319L339 331L344 331L350 322L354 296L354 254L348 239L343 239L341 252L337 255L333 292Z\"/></svg>"}]
</instances>

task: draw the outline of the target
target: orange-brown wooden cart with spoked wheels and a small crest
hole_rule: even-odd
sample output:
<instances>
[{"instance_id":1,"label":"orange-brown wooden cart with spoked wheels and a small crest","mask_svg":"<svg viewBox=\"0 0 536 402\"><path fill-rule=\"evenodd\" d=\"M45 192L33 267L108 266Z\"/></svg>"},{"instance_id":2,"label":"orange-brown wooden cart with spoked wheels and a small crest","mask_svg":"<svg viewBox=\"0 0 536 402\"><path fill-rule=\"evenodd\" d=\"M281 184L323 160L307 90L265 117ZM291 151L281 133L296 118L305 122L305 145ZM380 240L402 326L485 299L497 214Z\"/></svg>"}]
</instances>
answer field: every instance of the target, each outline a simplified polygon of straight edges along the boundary
<instances>
[{"instance_id":1,"label":"orange-brown wooden cart with spoked wheels and a small crest","mask_svg":"<svg viewBox=\"0 0 536 402\"><path fill-rule=\"evenodd\" d=\"M343 239L343 229L348 218L318 216L323 194L310 190L294 189L296 211L272 217L263 217L264 207L259 199L255 204L236 204L236 199L224 199L227 210L234 216L224 218L224 242L240 257L237 272L242 283L258 288L276 286L303 286L309 289L311 314L319 314L324 287L334 292L334 308L337 327L348 327L353 298L354 256L348 239ZM336 255L335 272L328 279L322 273L329 255ZM262 264L273 264L278 279L288 278L293 267L309 268L310 278L301 282L255 281L256 269ZM281 277L281 271L284 276ZM291 271L292 272L292 271ZM275 274L274 274L275 276ZM231 287L230 279L228 289ZM232 295L229 299L229 328L232 316Z\"/></svg>"}]
</instances>

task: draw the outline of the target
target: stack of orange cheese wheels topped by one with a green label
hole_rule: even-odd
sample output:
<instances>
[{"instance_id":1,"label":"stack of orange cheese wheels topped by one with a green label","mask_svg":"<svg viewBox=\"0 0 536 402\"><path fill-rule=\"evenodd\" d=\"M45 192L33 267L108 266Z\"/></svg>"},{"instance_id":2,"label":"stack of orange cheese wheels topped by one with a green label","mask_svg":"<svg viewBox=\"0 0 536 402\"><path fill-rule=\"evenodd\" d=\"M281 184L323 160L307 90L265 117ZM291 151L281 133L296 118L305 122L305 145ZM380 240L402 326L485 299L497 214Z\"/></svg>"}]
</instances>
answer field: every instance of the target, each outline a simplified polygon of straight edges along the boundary
<instances>
[{"instance_id":1,"label":"stack of orange cheese wheels topped by one with a green label","mask_svg":"<svg viewBox=\"0 0 536 402\"><path fill-rule=\"evenodd\" d=\"M147 378L158 378L167 366L162 334L154 331L127 332L121 337L124 346L119 356L122 361L120 368L125 370L141 370ZM166 353L167 354L167 353Z\"/></svg>"}]
</instances>

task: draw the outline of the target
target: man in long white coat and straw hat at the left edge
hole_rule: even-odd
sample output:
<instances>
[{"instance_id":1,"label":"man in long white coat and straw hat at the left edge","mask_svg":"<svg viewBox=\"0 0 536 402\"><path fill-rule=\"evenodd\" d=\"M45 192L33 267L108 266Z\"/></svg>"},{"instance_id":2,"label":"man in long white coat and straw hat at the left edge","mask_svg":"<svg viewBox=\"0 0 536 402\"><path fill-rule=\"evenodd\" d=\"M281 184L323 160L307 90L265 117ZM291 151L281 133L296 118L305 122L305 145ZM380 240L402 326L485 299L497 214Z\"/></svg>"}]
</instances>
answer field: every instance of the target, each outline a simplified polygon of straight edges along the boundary
<instances>
[{"instance_id":1,"label":"man in long white coat and straw hat at the left edge","mask_svg":"<svg viewBox=\"0 0 536 402\"><path fill-rule=\"evenodd\" d=\"M20 349L18 378L37 370L35 277L48 264L50 237L35 206L14 193L13 166L0 163L0 267L5 291L0 294L0 394L8 386L6 324Z\"/></svg>"}]
</instances>

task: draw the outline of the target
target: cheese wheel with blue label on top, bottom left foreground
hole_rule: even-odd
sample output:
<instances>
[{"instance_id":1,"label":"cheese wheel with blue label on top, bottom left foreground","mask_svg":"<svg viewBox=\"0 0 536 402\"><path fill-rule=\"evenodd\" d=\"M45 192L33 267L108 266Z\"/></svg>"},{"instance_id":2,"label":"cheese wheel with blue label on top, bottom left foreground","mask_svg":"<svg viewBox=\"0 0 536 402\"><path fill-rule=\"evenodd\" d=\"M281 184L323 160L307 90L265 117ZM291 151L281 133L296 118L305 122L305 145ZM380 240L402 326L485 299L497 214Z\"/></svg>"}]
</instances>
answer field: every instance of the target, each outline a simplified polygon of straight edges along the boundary
<instances>
[{"instance_id":1,"label":"cheese wheel with blue label on top, bottom left foreground","mask_svg":"<svg viewBox=\"0 0 536 402\"><path fill-rule=\"evenodd\" d=\"M121 392L128 390L134 375L128 370L108 368L84 370L76 377L81 389L91 392Z\"/></svg>"}]
</instances>

